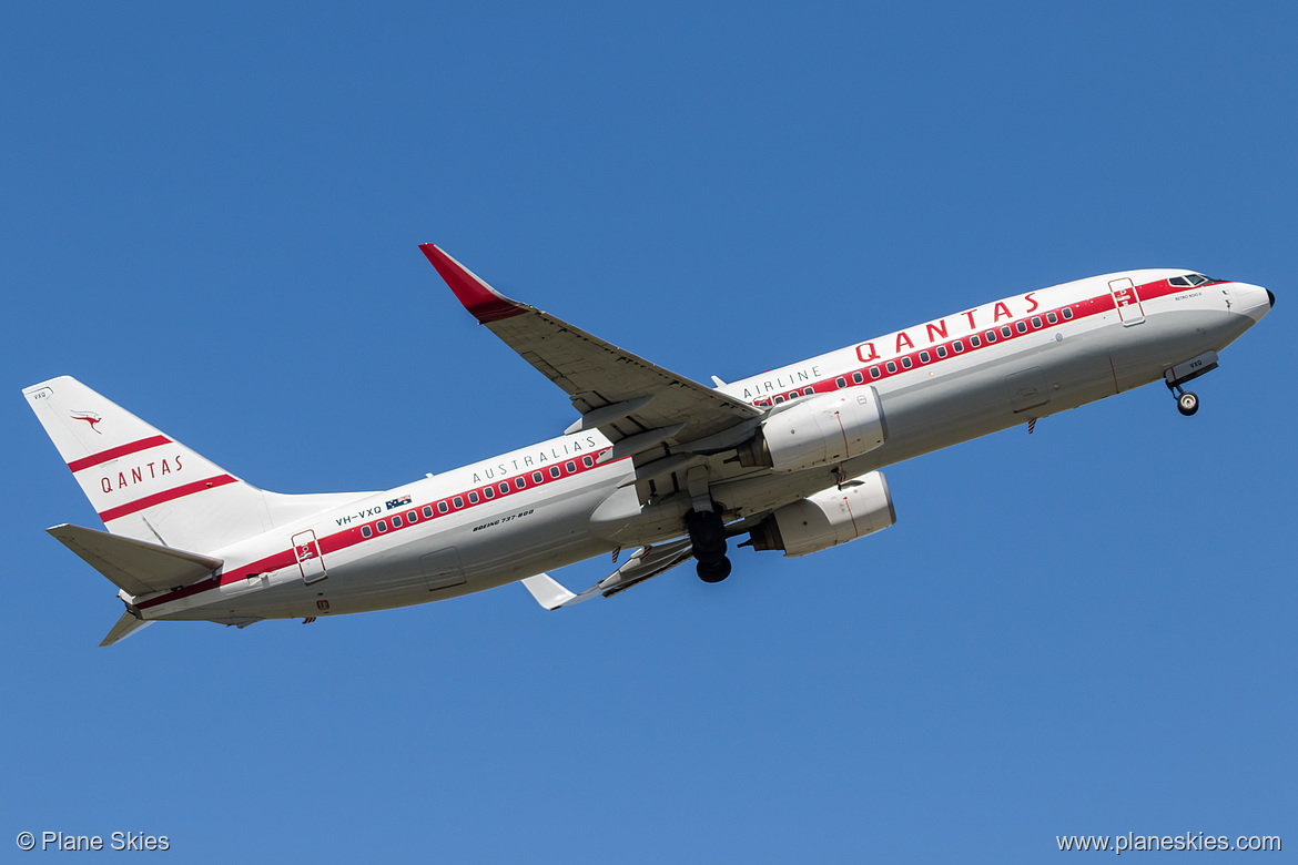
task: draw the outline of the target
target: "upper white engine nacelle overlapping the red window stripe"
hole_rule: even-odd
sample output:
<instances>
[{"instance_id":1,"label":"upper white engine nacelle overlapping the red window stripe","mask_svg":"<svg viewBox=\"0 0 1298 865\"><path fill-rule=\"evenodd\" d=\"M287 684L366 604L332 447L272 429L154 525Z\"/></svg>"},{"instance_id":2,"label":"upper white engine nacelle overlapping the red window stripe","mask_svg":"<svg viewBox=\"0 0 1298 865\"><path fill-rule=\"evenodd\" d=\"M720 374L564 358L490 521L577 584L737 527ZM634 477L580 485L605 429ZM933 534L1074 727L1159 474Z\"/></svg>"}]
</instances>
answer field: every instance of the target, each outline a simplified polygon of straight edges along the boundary
<instances>
[{"instance_id":1,"label":"upper white engine nacelle overlapping the red window stripe","mask_svg":"<svg viewBox=\"0 0 1298 865\"><path fill-rule=\"evenodd\" d=\"M778 407L739 449L740 464L796 472L859 456L884 444L879 393L871 385L796 399Z\"/></svg>"}]
</instances>

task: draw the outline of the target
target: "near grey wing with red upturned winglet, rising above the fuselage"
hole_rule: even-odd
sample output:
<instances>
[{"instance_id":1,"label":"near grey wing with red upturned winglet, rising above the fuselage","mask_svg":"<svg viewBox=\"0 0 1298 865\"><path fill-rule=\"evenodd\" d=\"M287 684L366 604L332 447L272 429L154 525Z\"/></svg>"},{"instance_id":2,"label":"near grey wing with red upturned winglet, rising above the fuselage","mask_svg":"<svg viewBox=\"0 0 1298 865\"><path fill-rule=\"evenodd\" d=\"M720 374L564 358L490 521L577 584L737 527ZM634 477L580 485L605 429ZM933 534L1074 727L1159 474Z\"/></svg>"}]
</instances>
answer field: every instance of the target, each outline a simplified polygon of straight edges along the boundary
<instances>
[{"instance_id":1,"label":"near grey wing with red upturned winglet, rising above the fuselage","mask_svg":"<svg viewBox=\"0 0 1298 865\"><path fill-rule=\"evenodd\" d=\"M598 429L614 442L613 458L710 440L762 415L746 402L505 297L434 244L419 249L479 324L569 394L582 419L567 432Z\"/></svg>"}]
</instances>

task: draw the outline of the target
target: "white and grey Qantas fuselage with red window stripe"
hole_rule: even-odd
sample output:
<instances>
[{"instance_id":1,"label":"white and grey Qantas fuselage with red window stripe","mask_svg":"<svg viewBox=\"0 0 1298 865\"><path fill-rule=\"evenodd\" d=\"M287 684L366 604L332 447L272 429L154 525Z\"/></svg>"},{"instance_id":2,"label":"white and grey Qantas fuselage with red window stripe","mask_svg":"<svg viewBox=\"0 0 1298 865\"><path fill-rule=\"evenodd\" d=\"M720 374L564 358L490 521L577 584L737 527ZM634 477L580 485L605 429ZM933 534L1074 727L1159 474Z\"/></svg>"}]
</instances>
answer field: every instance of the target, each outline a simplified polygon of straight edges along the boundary
<instances>
[{"instance_id":1,"label":"white and grey Qantas fuselage with red window stripe","mask_svg":"<svg viewBox=\"0 0 1298 865\"><path fill-rule=\"evenodd\" d=\"M718 389L767 407L874 386L887 441L841 466L861 476L1149 384L1225 348L1269 309L1254 285L1168 283L1184 272L1127 271L1029 292ZM593 431L561 436L349 502L214 551L221 572L141 599L139 611L244 624L383 610L683 536L689 495L619 486L632 460L600 463L609 447ZM840 467L775 473L718 460L713 469L711 495L731 521L823 490Z\"/></svg>"}]
</instances>

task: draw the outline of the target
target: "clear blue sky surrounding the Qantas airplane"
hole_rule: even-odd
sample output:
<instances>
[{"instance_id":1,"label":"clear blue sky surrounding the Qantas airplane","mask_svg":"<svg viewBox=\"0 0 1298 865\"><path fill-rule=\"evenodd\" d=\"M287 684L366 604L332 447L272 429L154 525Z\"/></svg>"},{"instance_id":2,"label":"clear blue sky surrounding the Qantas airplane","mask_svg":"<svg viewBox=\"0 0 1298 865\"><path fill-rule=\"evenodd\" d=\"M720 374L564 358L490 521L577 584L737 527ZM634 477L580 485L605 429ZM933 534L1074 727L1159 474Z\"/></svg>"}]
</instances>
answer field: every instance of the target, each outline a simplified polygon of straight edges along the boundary
<instances>
[{"instance_id":1,"label":"clear blue sky surrounding the Qantas airplane","mask_svg":"<svg viewBox=\"0 0 1298 865\"><path fill-rule=\"evenodd\" d=\"M1282 3L10 4L0 849L1298 846L1295 27ZM43 532L97 523L29 384L78 376L286 493L572 420L422 241L704 381L1132 267L1279 302L1195 418L1150 386L896 466L894 528L744 550L719 586L683 568L559 613L506 586L97 648L121 607Z\"/></svg>"}]
</instances>

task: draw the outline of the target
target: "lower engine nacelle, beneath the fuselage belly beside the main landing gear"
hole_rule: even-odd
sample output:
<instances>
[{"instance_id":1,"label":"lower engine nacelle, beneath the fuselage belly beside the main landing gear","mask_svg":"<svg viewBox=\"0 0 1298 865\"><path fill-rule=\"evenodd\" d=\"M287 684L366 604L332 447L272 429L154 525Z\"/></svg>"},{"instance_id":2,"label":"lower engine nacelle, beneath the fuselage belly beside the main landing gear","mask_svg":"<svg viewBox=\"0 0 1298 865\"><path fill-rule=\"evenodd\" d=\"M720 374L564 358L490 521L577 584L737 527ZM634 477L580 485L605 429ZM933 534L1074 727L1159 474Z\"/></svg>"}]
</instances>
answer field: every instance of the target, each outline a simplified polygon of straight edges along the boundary
<instances>
[{"instance_id":1,"label":"lower engine nacelle, beneath the fuselage belly beside the main landing gear","mask_svg":"<svg viewBox=\"0 0 1298 865\"><path fill-rule=\"evenodd\" d=\"M754 550L783 550L793 558L828 550L887 529L897 521L888 481L870 472L778 508L753 529Z\"/></svg>"}]
</instances>

